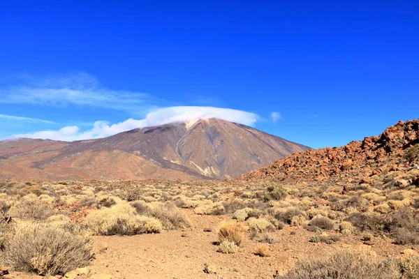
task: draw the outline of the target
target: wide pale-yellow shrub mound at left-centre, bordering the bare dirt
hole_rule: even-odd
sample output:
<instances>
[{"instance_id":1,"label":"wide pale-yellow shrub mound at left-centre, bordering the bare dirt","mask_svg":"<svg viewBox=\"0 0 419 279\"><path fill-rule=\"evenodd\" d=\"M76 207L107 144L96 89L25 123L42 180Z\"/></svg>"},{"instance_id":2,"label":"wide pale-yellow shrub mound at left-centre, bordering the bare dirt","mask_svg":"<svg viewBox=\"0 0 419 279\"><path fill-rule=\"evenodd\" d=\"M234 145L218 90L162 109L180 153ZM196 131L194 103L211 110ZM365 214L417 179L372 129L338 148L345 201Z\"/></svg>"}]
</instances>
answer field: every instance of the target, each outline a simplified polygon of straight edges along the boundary
<instances>
[{"instance_id":1,"label":"wide pale-yellow shrub mound at left-centre, bordering the bare dirt","mask_svg":"<svg viewBox=\"0 0 419 279\"><path fill-rule=\"evenodd\" d=\"M161 232L163 229L159 220L138 216L135 209L126 203L92 211L84 223L96 235L132 235Z\"/></svg>"}]
</instances>

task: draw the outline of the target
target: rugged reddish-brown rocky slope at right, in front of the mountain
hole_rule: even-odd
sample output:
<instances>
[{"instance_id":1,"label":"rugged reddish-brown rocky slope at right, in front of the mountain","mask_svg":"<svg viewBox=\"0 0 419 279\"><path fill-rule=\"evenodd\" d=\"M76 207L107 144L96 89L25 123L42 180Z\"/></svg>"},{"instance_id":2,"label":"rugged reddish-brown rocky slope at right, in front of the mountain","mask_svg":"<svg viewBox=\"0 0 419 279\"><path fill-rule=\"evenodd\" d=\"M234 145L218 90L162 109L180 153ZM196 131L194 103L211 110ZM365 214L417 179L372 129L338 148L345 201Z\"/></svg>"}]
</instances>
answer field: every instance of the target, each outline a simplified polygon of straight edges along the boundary
<instances>
[{"instance_id":1,"label":"rugged reddish-brown rocky slope at right, in front of the mountain","mask_svg":"<svg viewBox=\"0 0 419 279\"><path fill-rule=\"evenodd\" d=\"M379 136L365 137L365 140L341 147L295 153L270 166L245 174L240 180L281 179L304 183L323 181L371 184L378 176L384 177L392 172L404 177L395 183L419 184L419 163L406 158L409 149L418 152L416 155L419 156L418 147L419 119L406 123L399 121Z\"/></svg>"}]
</instances>

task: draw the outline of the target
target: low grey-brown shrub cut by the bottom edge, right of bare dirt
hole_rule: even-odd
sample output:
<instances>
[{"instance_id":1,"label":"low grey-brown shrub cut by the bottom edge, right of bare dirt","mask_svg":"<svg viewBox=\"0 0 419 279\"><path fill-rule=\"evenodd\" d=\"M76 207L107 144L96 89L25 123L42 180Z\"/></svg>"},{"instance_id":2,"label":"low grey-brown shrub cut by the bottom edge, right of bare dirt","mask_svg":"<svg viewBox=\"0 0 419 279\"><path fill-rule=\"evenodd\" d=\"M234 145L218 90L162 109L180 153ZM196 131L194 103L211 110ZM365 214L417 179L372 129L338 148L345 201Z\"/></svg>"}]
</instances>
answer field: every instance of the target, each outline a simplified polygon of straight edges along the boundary
<instances>
[{"instance_id":1,"label":"low grey-brown shrub cut by the bottom edge, right of bare dirt","mask_svg":"<svg viewBox=\"0 0 419 279\"><path fill-rule=\"evenodd\" d=\"M278 279L390 279L389 268L371 256L350 251L336 252L328 258L297 262L286 276Z\"/></svg>"}]
</instances>

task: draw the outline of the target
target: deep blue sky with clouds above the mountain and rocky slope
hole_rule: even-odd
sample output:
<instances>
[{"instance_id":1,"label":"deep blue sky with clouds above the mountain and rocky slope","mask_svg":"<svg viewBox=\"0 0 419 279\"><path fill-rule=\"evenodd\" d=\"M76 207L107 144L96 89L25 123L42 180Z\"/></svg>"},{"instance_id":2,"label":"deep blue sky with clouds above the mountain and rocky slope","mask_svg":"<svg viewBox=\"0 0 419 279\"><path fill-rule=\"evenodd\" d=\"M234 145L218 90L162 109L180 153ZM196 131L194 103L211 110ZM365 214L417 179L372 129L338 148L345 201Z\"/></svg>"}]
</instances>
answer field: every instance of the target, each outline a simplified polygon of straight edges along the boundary
<instances>
[{"instance_id":1,"label":"deep blue sky with clouds above the mountain and rocky slope","mask_svg":"<svg viewBox=\"0 0 419 279\"><path fill-rule=\"evenodd\" d=\"M317 148L419 117L418 1L3 2L0 138L205 114Z\"/></svg>"}]
</instances>

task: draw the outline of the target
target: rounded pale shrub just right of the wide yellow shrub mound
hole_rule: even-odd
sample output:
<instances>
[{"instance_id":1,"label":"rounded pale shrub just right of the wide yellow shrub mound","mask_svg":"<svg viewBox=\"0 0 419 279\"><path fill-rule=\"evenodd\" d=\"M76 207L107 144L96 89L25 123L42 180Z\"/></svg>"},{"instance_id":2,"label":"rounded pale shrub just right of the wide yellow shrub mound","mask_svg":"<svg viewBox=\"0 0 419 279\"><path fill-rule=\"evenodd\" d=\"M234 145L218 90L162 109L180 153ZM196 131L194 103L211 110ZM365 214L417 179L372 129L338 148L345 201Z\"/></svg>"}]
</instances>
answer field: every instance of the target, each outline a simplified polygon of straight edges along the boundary
<instances>
[{"instance_id":1,"label":"rounded pale shrub just right of the wide yellow shrub mound","mask_svg":"<svg viewBox=\"0 0 419 279\"><path fill-rule=\"evenodd\" d=\"M160 220L163 229L184 229L191 227L186 215L172 202L159 204L152 209L150 216Z\"/></svg>"}]
</instances>

